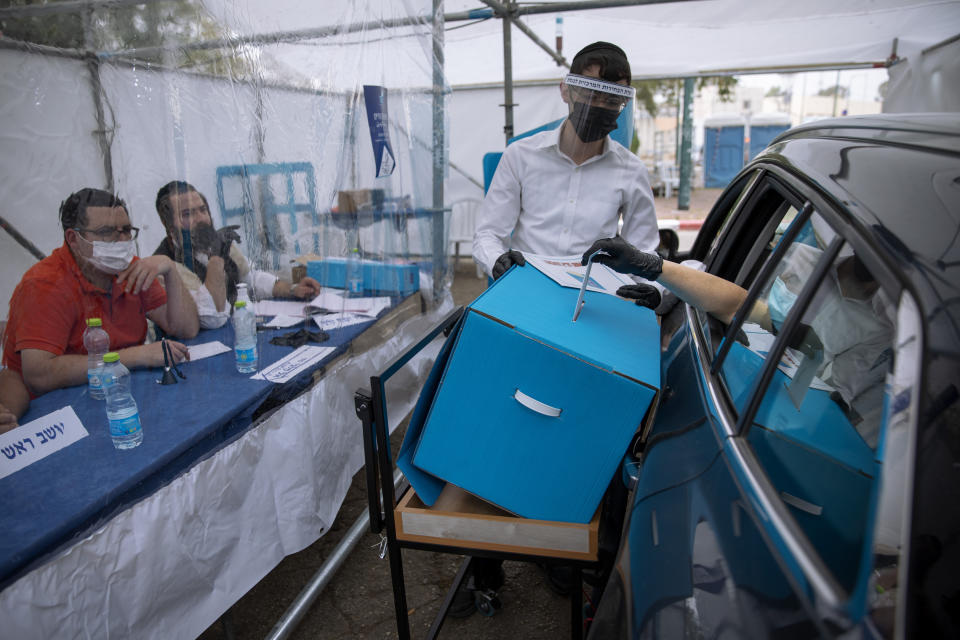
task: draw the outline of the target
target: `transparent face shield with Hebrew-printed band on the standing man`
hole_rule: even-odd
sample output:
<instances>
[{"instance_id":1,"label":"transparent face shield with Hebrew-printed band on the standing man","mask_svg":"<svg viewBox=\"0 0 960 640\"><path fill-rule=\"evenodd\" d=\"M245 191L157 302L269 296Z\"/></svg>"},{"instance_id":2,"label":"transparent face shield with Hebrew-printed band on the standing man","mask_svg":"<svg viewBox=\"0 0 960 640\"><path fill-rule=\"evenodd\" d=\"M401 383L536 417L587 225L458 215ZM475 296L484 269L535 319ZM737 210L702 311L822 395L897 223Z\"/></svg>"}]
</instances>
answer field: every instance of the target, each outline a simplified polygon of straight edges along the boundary
<instances>
[{"instance_id":1,"label":"transparent face shield with Hebrew-printed band on the standing man","mask_svg":"<svg viewBox=\"0 0 960 640\"><path fill-rule=\"evenodd\" d=\"M581 142L603 139L617 128L617 118L636 89L630 86L568 74L563 81L570 105L570 124Z\"/></svg>"}]
</instances>

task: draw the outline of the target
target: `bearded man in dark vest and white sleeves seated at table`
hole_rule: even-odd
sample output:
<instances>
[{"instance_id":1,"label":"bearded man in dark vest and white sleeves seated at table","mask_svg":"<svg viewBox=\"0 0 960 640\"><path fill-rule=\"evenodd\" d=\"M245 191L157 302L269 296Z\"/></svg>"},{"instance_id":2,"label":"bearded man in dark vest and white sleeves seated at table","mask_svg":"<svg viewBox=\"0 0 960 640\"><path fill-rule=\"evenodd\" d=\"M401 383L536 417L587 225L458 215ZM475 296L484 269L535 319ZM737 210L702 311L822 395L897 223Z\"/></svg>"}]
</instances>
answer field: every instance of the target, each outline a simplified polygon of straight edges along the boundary
<instances>
[{"instance_id":1,"label":"bearded man in dark vest and white sleeves seated at table","mask_svg":"<svg viewBox=\"0 0 960 640\"><path fill-rule=\"evenodd\" d=\"M204 329L220 327L230 318L240 282L260 299L312 299L320 293L320 283L313 278L292 285L266 271L251 270L233 244L240 240L236 227L214 229L207 199L193 185L182 180L165 184L157 192L156 207L167 237L154 255L176 261Z\"/></svg>"}]
</instances>

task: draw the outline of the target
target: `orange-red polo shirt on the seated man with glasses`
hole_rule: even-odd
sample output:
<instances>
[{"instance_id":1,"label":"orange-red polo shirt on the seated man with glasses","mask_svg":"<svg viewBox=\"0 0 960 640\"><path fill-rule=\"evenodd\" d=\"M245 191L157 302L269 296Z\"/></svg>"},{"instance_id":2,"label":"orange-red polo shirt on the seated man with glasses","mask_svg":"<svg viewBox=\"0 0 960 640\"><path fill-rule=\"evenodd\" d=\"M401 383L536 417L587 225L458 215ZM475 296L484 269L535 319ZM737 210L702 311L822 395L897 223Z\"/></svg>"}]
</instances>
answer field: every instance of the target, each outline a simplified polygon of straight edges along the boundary
<instances>
[{"instance_id":1,"label":"orange-red polo shirt on the seated man with glasses","mask_svg":"<svg viewBox=\"0 0 960 640\"><path fill-rule=\"evenodd\" d=\"M166 303L167 292L156 280L139 295L125 292L116 278L109 293L100 289L83 277L64 244L30 267L13 290L3 363L21 372L23 349L40 349L58 356L86 354L83 331L87 318L103 321L111 350L143 344L147 312Z\"/></svg>"}]
</instances>

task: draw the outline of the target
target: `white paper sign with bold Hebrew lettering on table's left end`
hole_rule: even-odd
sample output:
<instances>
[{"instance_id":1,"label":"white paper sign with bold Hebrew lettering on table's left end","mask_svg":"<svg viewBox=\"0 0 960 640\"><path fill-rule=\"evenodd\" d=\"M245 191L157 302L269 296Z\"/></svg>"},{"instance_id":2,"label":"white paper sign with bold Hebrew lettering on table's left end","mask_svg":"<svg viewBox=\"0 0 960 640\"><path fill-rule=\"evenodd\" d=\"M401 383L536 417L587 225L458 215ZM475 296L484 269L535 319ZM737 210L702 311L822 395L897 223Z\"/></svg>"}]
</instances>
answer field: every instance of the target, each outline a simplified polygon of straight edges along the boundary
<instances>
[{"instance_id":1,"label":"white paper sign with bold Hebrew lettering on table's left end","mask_svg":"<svg viewBox=\"0 0 960 640\"><path fill-rule=\"evenodd\" d=\"M73 407L58 409L0 434L0 478L6 478L87 435Z\"/></svg>"}]
</instances>

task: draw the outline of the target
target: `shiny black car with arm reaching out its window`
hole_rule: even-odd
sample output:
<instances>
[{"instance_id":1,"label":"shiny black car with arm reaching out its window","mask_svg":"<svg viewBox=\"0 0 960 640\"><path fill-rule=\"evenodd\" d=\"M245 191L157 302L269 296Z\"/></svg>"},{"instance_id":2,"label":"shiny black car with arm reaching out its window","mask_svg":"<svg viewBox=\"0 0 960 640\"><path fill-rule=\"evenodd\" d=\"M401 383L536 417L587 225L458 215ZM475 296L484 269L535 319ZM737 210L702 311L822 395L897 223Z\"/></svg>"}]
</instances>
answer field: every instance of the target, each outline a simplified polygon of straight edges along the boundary
<instances>
[{"instance_id":1,"label":"shiny black car with arm reaching out its window","mask_svg":"<svg viewBox=\"0 0 960 640\"><path fill-rule=\"evenodd\" d=\"M773 140L687 256L592 638L960 637L960 119Z\"/></svg>"}]
</instances>

